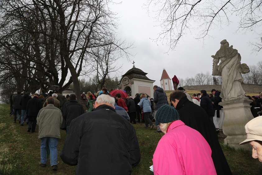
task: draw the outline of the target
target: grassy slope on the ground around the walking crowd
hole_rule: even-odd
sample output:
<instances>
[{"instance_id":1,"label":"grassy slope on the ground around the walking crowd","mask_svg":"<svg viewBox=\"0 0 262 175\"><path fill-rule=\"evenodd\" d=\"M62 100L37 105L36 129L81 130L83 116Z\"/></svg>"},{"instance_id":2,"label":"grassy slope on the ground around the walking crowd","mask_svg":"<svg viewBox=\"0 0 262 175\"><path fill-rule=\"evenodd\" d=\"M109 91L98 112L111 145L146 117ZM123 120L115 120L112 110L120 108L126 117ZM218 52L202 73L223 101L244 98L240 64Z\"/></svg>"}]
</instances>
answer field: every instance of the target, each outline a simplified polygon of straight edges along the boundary
<instances>
[{"instance_id":1,"label":"grassy slope on the ground around the walking crowd","mask_svg":"<svg viewBox=\"0 0 262 175\"><path fill-rule=\"evenodd\" d=\"M75 166L68 166L58 156L58 171L53 172L50 166L42 168L40 163L40 140L38 133L28 133L27 125L20 126L12 122L9 116L9 106L0 105L0 174L1 175L73 175ZM141 161L133 168L132 174L150 175L149 166L152 165L152 155L162 137L156 129L149 130L144 125L134 125L140 144ZM36 128L38 130L38 128ZM61 152L66 133L61 130L58 143L58 153ZM223 141L223 138L220 138ZM261 163L251 158L250 152L235 150L221 144L229 166L234 175L262 174ZM192 145L194 147L194 145ZM49 165L49 163L48 163ZM101 165L103 166L103 165Z\"/></svg>"}]
</instances>

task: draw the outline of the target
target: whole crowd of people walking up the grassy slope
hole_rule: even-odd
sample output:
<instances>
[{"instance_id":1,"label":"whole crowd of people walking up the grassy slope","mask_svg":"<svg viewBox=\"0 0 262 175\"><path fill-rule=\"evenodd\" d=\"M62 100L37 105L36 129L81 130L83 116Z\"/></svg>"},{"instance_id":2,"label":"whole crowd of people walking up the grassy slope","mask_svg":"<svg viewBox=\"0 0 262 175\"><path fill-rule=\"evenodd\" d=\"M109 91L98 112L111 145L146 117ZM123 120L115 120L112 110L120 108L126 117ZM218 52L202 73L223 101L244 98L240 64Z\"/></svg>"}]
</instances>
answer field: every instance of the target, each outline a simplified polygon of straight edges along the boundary
<instances>
[{"instance_id":1,"label":"whole crowd of people walking up the grassy slope","mask_svg":"<svg viewBox=\"0 0 262 175\"><path fill-rule=\"evenodd\" d=\"M168 98L163 88L153 89L154 98L137 93L133 99L120 93L112 97L103 87L94 94L83 93L80 100L75 94L64 97L42 90L30 96L17 91L10 96L10 113L14 122L28 124L28 132L39 126L41 167L46 167L49 149L50 165L57 170L62 129L67 137L60 157L64 163L77 165L76 174L131 174L141 158L131 124L144 122L146 128L156 125L156 132L165 134L153 155L154 174L232 174L217 136L224 120L220 92L201 90L190 96L179 87ZM262 161L262 116L257 117L262 111L262 92L249 98L257 115L247 123L247 140L241 144L250 143L253 158Z\"/></svg>"}]
</instances>

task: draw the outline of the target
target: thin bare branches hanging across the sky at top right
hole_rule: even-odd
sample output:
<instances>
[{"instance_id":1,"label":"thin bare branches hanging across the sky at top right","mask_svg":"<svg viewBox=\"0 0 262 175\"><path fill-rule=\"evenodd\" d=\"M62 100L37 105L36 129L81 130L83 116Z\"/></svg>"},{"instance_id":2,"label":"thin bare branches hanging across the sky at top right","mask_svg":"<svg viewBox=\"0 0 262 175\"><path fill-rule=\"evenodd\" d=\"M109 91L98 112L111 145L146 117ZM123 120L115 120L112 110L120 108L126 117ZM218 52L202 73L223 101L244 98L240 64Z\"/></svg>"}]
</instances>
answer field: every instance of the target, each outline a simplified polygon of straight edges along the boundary
<instances>
[{"instance_id":1,"label":"thin bare branches hanging across the sky at top right","mask_svg":"<svg viewBox=\"0 0 262 175\"><path fill-rule=\"evenodd\" d=\"M156 41L166 42L170 49L174 49L178 41L193 30L199 31L196 38L204 39L210 30L228 25L230 17L240 17L239 28L243 31L254 31L260 26L261 0L148 0L147 7L153 7L156 19L160 21L162 31ZM236 30L238 30L236 29ZM259 32L259 35L262 35ZM255 49L262 48L262 37L260 41L253 43Z\"/></svg>"}]
</instances>

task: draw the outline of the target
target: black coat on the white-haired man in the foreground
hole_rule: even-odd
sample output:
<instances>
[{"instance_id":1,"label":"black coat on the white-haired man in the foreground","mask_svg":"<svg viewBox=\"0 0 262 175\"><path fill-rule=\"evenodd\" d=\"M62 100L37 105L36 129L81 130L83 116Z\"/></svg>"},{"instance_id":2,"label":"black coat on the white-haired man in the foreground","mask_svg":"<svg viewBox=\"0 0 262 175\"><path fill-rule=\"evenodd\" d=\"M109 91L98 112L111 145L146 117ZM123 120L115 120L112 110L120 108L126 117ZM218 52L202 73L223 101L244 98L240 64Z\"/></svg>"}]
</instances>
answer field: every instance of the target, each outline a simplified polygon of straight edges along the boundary
<instances>
[{"instance_id":1,"label":"black coat on the white-haired man in the foreground","mask_svg":"<svg viewBox=\"0 0 262 175\"><path fill-rule=\"evenodd\" d=\"M127 175L140 162L135 129L110 106L77 117L69 130L60 157L77 175Z\"/></svg>"}]
</instances>

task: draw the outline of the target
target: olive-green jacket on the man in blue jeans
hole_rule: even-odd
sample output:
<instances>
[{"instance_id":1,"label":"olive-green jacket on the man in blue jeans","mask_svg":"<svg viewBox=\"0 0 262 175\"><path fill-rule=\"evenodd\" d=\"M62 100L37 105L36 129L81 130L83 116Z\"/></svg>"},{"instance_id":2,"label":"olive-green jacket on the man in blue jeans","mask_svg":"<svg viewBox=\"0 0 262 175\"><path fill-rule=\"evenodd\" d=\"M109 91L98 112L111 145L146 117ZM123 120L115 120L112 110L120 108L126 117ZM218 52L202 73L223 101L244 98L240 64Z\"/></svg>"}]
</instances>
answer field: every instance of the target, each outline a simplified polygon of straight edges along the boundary
<instances>
[{"instance_id":1,"label":"olive-green jacket on the man in blue jeans","mask_svg":"<svg viewBox=\"0 0 262 175\"><path fill-rule=\"evenodd\" d=\"M38 138L54 137L60 139L60 127L63 121L60 109L53 104L48 104L40 109L37 115Z\"/></svg>"}]
</instances>

